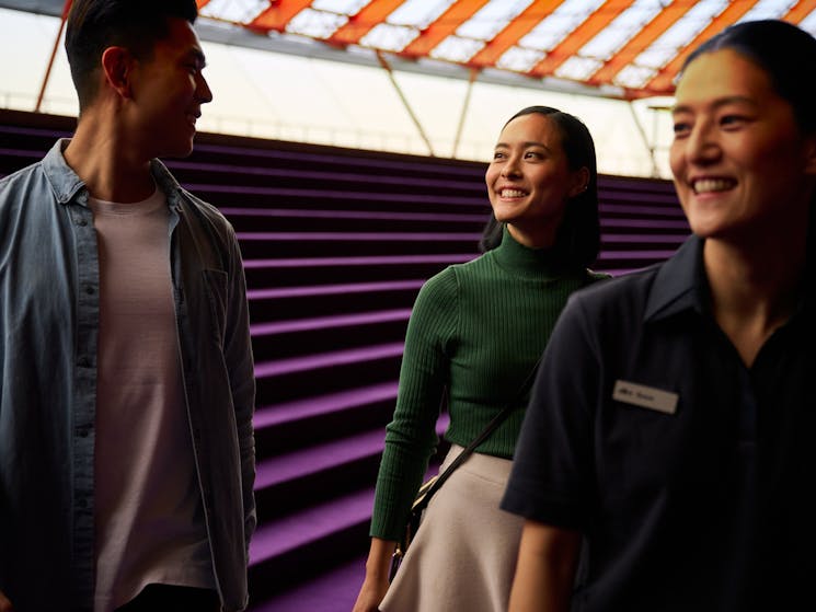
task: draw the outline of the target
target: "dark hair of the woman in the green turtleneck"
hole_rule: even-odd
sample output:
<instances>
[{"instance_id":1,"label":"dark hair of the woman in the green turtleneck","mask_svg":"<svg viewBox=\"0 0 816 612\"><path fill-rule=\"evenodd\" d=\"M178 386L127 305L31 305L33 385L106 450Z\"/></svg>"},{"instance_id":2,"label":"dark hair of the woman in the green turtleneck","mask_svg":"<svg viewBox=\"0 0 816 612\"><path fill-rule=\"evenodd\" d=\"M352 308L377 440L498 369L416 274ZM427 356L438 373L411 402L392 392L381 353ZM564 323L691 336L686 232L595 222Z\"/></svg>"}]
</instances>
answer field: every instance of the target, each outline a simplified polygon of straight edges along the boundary
<instances>
[{"instance_id":1,"label":"dark hair of the woman in the green turtleneck","mask_svg":"<svg viewBox=\"0 0 816 612\"><path fill-rule=\"evenodd\" d=\"M556 126L570 170L586 168L589 171L586 190L570 198L566 203L564 217L555 233L553 252L565 265L590 266L600 251L598 166L595 159L595 142L581 119L550 106L522 108L507 120L505 127L513 119L532 114L543 115ZM491 213L479 242L480 250L484 253L498 246L502 242L502 232L503 224Z\"/></svg>"}]
</instances>

